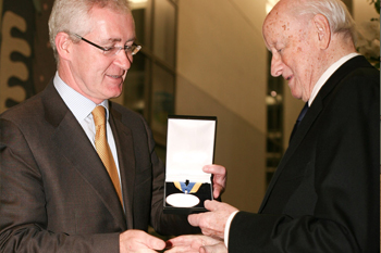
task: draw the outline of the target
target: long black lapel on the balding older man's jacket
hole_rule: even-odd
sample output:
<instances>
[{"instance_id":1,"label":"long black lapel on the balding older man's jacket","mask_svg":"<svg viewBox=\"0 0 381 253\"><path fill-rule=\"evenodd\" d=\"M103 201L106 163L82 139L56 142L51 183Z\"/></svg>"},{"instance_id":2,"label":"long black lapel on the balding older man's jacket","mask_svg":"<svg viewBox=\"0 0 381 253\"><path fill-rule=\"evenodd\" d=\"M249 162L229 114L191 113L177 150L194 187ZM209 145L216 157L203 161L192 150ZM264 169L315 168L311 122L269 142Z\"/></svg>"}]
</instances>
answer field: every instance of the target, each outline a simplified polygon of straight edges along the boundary
<instances>
[{"instance_id":1,"label":"long black lapel on the balding older man's jacket","mask_svg":"<svg viewBox=\"0 0 381 253\"><path fill-rule=\"evenodd\" d=\"M341 67L337 68L336 72L325 81L321 90L319 91L318 96L314 100L314 103L308 109L304 119L300 122L300 125L295 132L295 136L293 137L292 141L290 142L290 146L284 153L274 176L272 177L270 185L268 187L268 190L266 191L266 195L263 198L263 201L261 203L261 206L259 207L259 213L262 212L262 210L266 206L266 203L269 200L269 197L271 195L272 189L274 185L276 184L280 175L282 174L282 170L284 169L285 165L287 164L288 160L294 155L295 151L302 143L303 139L306 137L308 130L314 125L315 121L321 113L324 106L324 100L329 98L329 94L333 92L335 87L340 84L340 81L347 76L349 73L352 73L357 67L369 67L370 64L366 61L364 56L355 56L344 63Z\"/></svg>"}]
</instances>

